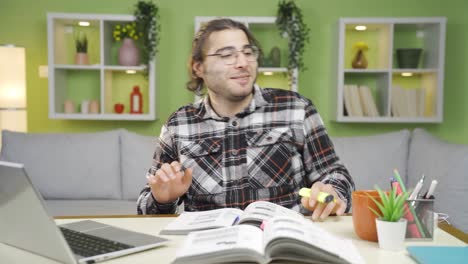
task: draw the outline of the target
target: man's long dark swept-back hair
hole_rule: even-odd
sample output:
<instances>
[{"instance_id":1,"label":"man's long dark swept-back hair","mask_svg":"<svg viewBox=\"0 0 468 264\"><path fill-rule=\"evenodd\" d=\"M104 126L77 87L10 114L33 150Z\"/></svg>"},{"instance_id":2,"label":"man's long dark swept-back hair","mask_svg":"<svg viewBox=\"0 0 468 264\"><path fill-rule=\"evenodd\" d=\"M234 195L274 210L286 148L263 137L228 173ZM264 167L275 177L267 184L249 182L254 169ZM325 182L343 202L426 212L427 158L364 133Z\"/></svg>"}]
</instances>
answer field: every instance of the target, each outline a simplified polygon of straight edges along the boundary
<instances>
[{"instance_id":1,"label":"man's long dark swept-back hair","mask_svg":"<svg viewBox=\"0 0 468 264\"><path fill-rule=\"evenodd\" d=\"M192 42L192 55L190 56L188 62L188 74L190 81L187 82L187 89L197 95L202 94L204 82L203 79L198 77L193 70L193 64L196 62L203 62L205 57L203 52L206 40L209 38L211 33L223 31L226 29L240 29L244 31L247 39L249 40L249 44L257 46L260 49L260 57L262 57L262 51L258 41L243 23L227 18L219 18L209 21L208 23L204 24L195 34Z\"/></svg>"}]
</instances>

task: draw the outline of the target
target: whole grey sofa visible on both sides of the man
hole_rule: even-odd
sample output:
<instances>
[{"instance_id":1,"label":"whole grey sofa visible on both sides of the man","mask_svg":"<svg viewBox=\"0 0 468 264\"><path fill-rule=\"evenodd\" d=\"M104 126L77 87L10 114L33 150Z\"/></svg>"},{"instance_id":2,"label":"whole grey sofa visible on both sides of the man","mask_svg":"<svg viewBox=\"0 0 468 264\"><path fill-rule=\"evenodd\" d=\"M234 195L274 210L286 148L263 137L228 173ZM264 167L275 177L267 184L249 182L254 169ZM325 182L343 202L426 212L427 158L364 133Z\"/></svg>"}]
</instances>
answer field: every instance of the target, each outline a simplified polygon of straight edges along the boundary
<instances>
[{"instance_id":1,"label":"whole grey sofa visible on both sides of the man","mask_svg":"<svg viewBox=\"0 0 468 264\"><path fill-rule=\"evenodd\" d=\"M406 185L432 179L435 211L468 232L468 146L446 143L422 129L332 137L356 189L388 188L393 169ZM99 133L3 131L0 159L24 163L53 215L134 214L157 139L119 129Z\"/></svg>"}]
</instances>

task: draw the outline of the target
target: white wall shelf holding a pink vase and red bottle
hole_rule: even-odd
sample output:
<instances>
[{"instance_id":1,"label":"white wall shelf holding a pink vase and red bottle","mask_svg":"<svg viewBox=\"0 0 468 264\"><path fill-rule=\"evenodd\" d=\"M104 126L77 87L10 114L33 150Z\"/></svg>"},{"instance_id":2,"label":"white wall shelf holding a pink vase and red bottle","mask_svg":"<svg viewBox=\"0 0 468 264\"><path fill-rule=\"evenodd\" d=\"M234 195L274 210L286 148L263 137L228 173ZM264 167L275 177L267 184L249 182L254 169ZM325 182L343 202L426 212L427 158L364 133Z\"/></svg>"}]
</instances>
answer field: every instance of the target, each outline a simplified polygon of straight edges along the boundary
<instances>
[{"instance_id":1,"label":"white wall shelf holding a pink vase and red bottle","mask_svg":"<svg viewBox=\"0 0 468 264\"><path fill-rule=\"evenodd\" d=\"M156 119L155 62L140 60L137 66L118 62L121 42L114 41L114 26L132 21L131 15L48 13L49 118ZM80 26L80 22L88 26ZM81 65L75 60L75 40L80 35L86 35L88 42L88 63ZM130 113L134 86L142 94L142 113L138 114ZM82 112L82 104L92 104L93 113ZM115 108L122 105L123 112L117 113Z\"/></svg>"}]
</instances>

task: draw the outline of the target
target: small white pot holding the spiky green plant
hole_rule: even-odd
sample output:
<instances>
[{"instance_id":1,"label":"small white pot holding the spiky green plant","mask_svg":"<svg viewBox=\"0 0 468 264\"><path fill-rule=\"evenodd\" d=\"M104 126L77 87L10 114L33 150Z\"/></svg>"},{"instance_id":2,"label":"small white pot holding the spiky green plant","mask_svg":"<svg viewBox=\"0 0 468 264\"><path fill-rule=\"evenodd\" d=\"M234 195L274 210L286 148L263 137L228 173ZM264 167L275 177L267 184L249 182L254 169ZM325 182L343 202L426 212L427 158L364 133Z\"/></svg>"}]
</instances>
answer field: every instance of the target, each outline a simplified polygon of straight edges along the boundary
<instances>
[{"instance_id":1,"label":"small white pot holding the spiky green plant","mask_svg":"<svg viewBox=\"0 0 468 264\"><path fill-rule=\"evenodd\" d=\"M375 219L377 226L377 237L379 247L387 250L403 250L407 220L400 219L398 222L387 222L380 219Z\"/></svg>"}]
</instances>

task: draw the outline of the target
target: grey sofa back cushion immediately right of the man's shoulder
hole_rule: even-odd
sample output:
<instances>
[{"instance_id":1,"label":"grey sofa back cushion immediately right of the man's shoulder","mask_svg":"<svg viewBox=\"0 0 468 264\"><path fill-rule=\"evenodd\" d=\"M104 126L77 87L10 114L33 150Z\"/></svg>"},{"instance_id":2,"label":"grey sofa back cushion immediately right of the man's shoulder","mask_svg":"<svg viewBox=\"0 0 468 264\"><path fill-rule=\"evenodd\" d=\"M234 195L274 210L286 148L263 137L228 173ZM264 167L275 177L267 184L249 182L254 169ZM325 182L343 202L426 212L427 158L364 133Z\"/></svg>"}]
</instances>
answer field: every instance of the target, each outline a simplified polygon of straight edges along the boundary
<instances>
[{"instance_id":1,"label":"grey sofa back cushion immediately right of the man's shoulder","mask_svg":"<svg viewBox=\"0 0 468 264\"><path fill-rule=\"evenodd\" d=\"M389 187L393 169L398 169L406 182L410 132L397 132L360 137L334 137L335 150L354 179L356 190Z\"/></svg>"}]
</instances>

